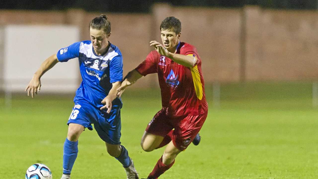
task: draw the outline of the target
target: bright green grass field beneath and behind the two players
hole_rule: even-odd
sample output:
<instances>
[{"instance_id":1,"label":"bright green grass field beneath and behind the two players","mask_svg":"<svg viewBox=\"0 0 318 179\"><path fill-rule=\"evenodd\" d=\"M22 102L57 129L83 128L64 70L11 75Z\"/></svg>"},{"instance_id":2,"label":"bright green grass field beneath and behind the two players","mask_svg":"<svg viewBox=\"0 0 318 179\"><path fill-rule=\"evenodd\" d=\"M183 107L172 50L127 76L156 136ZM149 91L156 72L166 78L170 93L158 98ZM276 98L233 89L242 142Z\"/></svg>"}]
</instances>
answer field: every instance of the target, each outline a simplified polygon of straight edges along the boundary
<instances>
[{"instance_id":1,"label":"bright green grass field beneath and behind the two players","mask_svg":"<svg viewBox=\"0 0 318 179\"><path fill-rule=\"evenodd\" d=\"M312 107L311 83L222 84L219 107L213 107L209 86L206 96L209 115L200 145L179 154L162 179L318 178L318 109ZM122 99L121 142L140 177L147 177L163 153L163 148L147 153L140 147L146 125L161 108L159 89L127 89ZM0 98L1 178L24 178L38 162L60 178L73 95L14 95L12 106L7 109ZM97 133L86 130L72 178L124 179L126 174Z\"/></svg>"}]
</instances>

